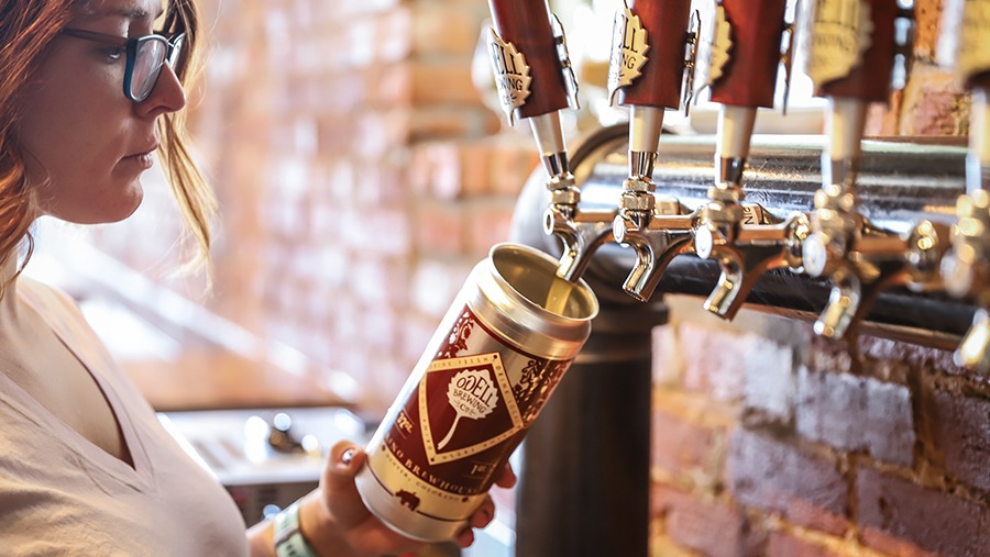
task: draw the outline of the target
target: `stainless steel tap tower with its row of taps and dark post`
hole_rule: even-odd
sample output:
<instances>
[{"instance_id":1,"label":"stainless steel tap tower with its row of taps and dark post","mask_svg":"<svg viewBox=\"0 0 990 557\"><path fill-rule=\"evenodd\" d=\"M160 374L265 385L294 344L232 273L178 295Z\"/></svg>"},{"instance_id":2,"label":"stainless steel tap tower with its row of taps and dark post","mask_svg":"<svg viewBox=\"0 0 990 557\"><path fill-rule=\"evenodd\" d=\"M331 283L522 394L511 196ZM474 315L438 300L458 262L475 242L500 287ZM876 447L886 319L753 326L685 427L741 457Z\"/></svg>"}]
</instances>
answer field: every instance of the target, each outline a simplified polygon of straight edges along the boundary
<instances>
[{"instance_id":1,"label":"stainless steel tap tower with its row of taps and dark post","mask_svg":"<svg viewBox=\"0 0 990 557\"><path fill-rule=\"evenodd\" d=\"M972 91L968 145L864 138L895 58L910 62L911 33L899 30L913 14L898 0L807 0L790 22L787 1L716 0L700 14L688 0L618 5L609 89L629 124L570 154L554 118L573 103L538 90L576 87L556 20L544 2L490 2L493 53L521 55L501 66L494 55L497 78L540 58L527 43L557 55L527 68L530 81L507 81L531 91L503 87L544 160L519 198L515 238L559 256L558 275L588 280L603 302L528 437L520 556L646 555L648 346L664 292L702 297L726 320L744 304L806 320L836 341L864 332L958 347L960 365L990 368L990 48L977 32L990 0L946 7L964 31L948 57ZM828 100L826 133L754 136L795 49ZM694 85L721 104L716 136L661 137L664 111L686 108Z\"/></svg>"}]
</instances>

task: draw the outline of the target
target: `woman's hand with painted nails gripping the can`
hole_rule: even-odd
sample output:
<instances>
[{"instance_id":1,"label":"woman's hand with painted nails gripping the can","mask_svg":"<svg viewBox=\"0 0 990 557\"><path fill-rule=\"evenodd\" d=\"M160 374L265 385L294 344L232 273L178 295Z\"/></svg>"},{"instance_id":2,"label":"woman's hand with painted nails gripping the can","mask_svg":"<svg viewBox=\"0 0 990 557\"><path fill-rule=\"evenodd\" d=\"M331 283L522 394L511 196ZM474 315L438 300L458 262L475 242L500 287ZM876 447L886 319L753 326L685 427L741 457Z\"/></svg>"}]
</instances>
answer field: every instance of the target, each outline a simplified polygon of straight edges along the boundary
<instances>
[{"instance_id":1,"label":"woman's hand with painted nails gripping the can","mask_svg":"<svg viewBox=\"0 0 990 557\"><path fill-rule=\"evenodd\" d=\"M300 503L302 536L321 557L395 554L413 552L425 545L397 534L364 505L354 484L354 477L364 460L365 454L358 445L350 442L334 445L330 449L320 488L306 495ZM515 482L516 476L506 466L495 483L509 488ZM471 545L474 542L472 528L487 526L494 516L495 503L488 495L458 535L458 545Z\"/></svg>"}]
</instances>

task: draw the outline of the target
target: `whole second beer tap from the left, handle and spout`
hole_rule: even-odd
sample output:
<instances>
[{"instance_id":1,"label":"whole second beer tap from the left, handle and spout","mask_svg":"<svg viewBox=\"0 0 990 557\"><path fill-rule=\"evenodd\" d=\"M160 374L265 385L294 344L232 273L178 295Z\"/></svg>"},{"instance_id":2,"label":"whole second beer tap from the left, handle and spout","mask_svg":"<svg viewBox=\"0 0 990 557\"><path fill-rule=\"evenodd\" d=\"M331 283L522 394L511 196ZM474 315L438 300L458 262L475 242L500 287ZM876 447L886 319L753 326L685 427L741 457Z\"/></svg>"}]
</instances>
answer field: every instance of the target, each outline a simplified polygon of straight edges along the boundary
<instances>
[{"instance_id":1,"label":"whole second beer tap from the left, handle and spout","mask_svg":"<svg viewBox=\"0 0 990 557\"><path fill-rule=\"evenodd\" d=\"M636 266L623 289L640 301L650 298L673 257L691 247L694 216L676 199L658 202L653 183L663 113L681 104L689 40L696 45L688 33L690 15L691 0L631 0L616 14L613 32L609 96L613 103L630 108L629 177L623 182L613 235L636 250Z\"/></svg>"}]
</instances>

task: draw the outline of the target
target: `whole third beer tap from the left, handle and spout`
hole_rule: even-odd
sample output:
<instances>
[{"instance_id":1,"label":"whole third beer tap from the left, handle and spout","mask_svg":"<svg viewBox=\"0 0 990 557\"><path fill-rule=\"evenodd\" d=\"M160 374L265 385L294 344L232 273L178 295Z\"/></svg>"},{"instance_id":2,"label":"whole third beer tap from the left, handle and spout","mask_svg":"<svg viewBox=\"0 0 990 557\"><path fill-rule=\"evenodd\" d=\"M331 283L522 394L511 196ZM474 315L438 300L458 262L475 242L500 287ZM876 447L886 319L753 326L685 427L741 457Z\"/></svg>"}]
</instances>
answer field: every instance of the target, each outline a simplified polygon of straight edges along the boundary
<instances>
[{"instance_id":1,"label":"whole third beer tap from the left, handle and spout","mask_svg":"<svg viewBox=\"0 0 990 557\"><path fill-rule=\"evenodd\" d=\"M716 177L694 232L694 247L698 257L722 268L704 308L732 320L763 272L801 269L807 219L795 214L780 220L759 205L744 204L743 175L757 109L773 107L784 31L793 37L784 22L787 0L721 0L713 8L698 81L721 103Z\"/></svg>"}]
</instances>

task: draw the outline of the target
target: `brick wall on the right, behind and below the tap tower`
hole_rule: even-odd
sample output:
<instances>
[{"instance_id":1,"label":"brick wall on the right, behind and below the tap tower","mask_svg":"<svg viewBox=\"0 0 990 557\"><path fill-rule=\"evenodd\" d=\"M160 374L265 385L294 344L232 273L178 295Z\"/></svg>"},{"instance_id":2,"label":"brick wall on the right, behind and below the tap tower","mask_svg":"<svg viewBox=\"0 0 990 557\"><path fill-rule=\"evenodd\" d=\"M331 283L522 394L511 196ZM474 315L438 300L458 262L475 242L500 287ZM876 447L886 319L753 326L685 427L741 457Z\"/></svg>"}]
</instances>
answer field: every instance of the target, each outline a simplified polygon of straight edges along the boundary
<instances>
[{"instance_id":1,"label":"brick wall on the right, behind and below the tap tower","mask_svg":"<svg viewBox=\"0 0 990 557\"><path fill-rule=\"evenodd\" d=\"M934 62L941 2L875 135L964 135L968 101ZM817 338L751 311L726 325L672 298L654 334L653 555L986 555L990 382L952 354ZM732 357L726 357L732 355Z\"/></svg>"}]
</instances>

